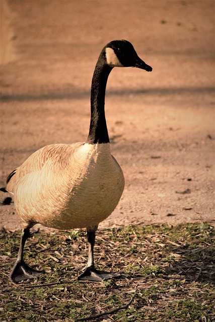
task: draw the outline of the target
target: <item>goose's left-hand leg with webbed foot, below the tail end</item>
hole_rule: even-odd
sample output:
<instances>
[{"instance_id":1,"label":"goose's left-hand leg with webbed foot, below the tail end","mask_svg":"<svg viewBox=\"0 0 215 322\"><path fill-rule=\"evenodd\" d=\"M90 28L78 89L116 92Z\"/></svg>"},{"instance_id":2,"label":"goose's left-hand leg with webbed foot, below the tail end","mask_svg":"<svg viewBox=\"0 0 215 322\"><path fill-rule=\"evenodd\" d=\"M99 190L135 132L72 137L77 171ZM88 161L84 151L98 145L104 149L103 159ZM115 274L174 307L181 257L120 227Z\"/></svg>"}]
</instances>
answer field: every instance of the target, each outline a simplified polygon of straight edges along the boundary
<instances>
[{"instance_id":1,"label":"goose's left-hand leg with webbed foot, below the tail end","mask_svg":"<svg viewBox=\"0 0 215 322\"><path fill-rule=\"evenodd\" d=\"M42 271L37 271L31 268L24 262L23 251L24 251L25 242L29 236L30 236L30 229L29 228L23 229L21 234L20 249L18 252L17 260L10 275L10 280L14 283L35 278L43 273Z\"/></svg>"}]
</instances>

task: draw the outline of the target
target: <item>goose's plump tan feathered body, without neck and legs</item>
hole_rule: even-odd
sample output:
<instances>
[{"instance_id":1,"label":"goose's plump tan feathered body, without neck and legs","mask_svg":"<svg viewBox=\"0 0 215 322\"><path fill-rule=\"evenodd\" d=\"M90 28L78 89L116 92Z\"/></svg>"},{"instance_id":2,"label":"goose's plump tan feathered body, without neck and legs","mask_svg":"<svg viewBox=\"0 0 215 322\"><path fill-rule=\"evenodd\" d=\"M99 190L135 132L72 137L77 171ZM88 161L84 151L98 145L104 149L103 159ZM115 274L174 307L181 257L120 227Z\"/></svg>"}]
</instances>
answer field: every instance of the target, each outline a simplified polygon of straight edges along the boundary
<instances>
[{"instance_id":1,"label":"goose's plump tan feathered body, without neck and legs","mask_svg":"<svg viewBox=\"0 0 215 322\"><path fill-rule=\"evenodd\" d=\"M115 209L123 189L109 143L84 142L39 149L7 185L24 227L41 223L58 229L98 225Z\"/></svg>"}]
</instances>

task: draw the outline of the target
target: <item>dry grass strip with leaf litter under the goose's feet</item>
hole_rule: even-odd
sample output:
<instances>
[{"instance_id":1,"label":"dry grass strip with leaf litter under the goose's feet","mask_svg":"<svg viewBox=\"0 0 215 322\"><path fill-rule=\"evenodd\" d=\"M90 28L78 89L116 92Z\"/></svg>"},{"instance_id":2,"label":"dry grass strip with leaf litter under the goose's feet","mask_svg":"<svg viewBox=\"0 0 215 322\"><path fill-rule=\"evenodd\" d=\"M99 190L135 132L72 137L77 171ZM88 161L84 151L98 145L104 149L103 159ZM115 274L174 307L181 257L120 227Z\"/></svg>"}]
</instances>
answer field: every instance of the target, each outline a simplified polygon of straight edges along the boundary
<instances>
[{"instance_id":1,"label":"dry grass strip with leaf litter under the goose's feet","mask_svg":"<svg viewBox=\"0 0 215 322\"><path fill-rule=\"evenodd\" d=\"M25 258L46 273L17 285L9 274L20 231L1 231L2 321L215 321L215 231L206 223L99 230L95 260L121 277L81 283L85 230L34 233Z\"/></svg>"}]
</instances>

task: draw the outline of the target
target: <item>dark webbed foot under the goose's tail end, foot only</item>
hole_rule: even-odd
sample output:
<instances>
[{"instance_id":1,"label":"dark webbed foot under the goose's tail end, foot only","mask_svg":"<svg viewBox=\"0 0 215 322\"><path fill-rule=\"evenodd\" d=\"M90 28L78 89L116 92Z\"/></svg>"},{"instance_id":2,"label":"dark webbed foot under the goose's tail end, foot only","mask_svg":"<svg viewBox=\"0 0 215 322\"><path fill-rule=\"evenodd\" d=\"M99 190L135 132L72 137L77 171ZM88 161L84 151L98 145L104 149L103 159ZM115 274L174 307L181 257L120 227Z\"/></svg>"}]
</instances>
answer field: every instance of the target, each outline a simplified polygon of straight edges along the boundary
<instances>
[{"instance_id":1,"label":"dark webbed foot under the goose's tail end, foot only","mask_svg":"<svg viewBox=\"0 0 215 322\"><path fill-rule=\"evenodd\" d=\"M10 275L10 280L14 283L24 281L27 279L33 279L40 276L43 271L37 271L28 266L24 261L15 263Z\"/></svg>"}]
</instances>

